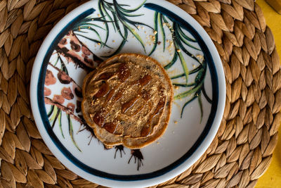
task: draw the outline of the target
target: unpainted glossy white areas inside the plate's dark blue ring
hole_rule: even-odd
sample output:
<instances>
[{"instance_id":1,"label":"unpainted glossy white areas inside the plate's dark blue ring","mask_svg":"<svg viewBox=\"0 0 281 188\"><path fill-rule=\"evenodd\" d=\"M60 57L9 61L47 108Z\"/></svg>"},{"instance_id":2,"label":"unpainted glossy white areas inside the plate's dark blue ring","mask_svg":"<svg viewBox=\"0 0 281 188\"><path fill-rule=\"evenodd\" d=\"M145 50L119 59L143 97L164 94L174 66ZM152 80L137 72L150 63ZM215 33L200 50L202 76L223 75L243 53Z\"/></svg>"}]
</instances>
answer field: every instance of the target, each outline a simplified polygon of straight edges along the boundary
<instances>
[{"instance_id":1,"label":"unpainted glossy white areas inside the plate's dark blue ring","mask_svg":"<svg viewBox=\"0 0 281 188\"><path fill-rule=\"evenodd\" d=\"M125 1L126 4L129 4L128 1ZM94 1L93 4L96 4L97 1ZM94 7L97 7L97 5L94 5ZM133 8L134 6L132 6ZM147 25L150 25L153 27L153 16L154 11L151 11L147 8L141 8L140 10L135 12L136 14L144 14L142 16L138 16L136 18L130 18L131 20L138 20L138 22L145 23ZM98 10L90 15L90 17L98 17L100 16ZM100 27L104 27L103 23L96 23L100 25ZM112 51L115 51L117 47L119 46L120 42L122 41L122 37L118 35L117 32L114 31L114 28L112 25L109 24L110 27L110 35L107 41L107 45L111 46L113 49L109 49L107 47L100 48L100 45L96 44L95 42L91 42L89 39L85 39L84 37L79 37L78 39L83 42L88 48L93 52L93 54L96 54L96 56L106 56L107 54L112 53ZM98 29L97 29L98 30ZM169 28L164 27L165 32L169 33ZM105 31L104 30L98 30L100 37L104 41L105 39ZM145 43L145 51L143 50L143 46L141 46L140 42L129 33L128 41L124 45L122 51L119 53L138 53L138 54L144 54L148 55L150 50L152 49L152 40L150 39L150 35L153 35L153 30L151 30L148 27L140 25L139 30L136 30L138 34L143 39L143 42ZM188 32L185 31L185 34L192 37ZM92 39L98 39L96 37L96 34L93 32L89 32L88 34L84 34L84 36L92 38ZM192 37L193 38L193 37ZM166 38L168 41L171 40L171 35ZM162 41L162 35L159 35L159 41ZM192 43L194 46L199 47L196 43ZM168 47L169 45L166 44L166 49L163 52L163 42L161 42L159 45L157 45L157 49L154 51L154 53L151 55L152 58L155 58L159 63L162 65L166 65L171 61L171 58L173 58L174 54L174 47ZM173 46L173 45L171 45ZM188 46L185 46L192 54L195 55L203 55L202 51L197 51L195 49L191 49ZM55 58L57 55L51 56L50 63L55 63ZM188 69L192 70L194 69L196 62L190 58L189 56L186 56L184 54L185 61L187 62ZM104 58L105 59L105 58ZM65 61L65 65L67 67L68 73L70 77L81 87L83 78L86 75L86 72L82 70L81 68L77 68L74 63L70 62L67 63L66 59L63 59ZM59 66L59 64L57 64ZM54 71L53 68L51 68L50 65L48 65L48 70ZM183 70L181 68L181 62L178 60L176 61L176 64L173 65L169 70L167 70L167 73L169 76L178 75L179 73L183 73ZM195 80L195 75L190 75L189 80ZM178 81L181 82L184 77L179 78ZM204 80L204 86L206 89L206 92L208 96L211 98L211 76L209 73L209 68L207 69L207 75ZM48 87L51 89L53 93L60 92L61 87L58 87L57 85L52 85ZM183 92L184 89L174 89L175 95ZM55 123L55 126L53 127L53 132L55 132L56 136L60 140L60 142L67 148L70 153L74 157L76 157L79 161L82 163L89 165L91 168L95 168L97 170L101 170L106 173L112 173L117 175L135 175L135 174L143 174L143 173L151 173L155 170L160 170L167 165L173 163L174 161L178 160L178 158L181 158L183 154L185 154L193 144L195 144L198 137L200 137L200 134L204 130L204 127L207 123L207 120L209 118L209 114L211 112L211 104L207 102L207 100L202 96L202 106L203 106L203 117L202 121L200 123L201 119L201 113L200 113L200 106L198 105L197 99L192 101L188 106L185 107L183 118L181 118L181 108L183 107L183 104L185 104L186 101L188 101L190 98L185 99L178 99L174 101L171 118L169 121L169 126L164 134L163 137L161 137L157 142L150 144L149 146L146 146L145 148L141 149L141 152L143 154L143 166L137 170L137 165L134 163L135 158L131 158L130 163L128 163L129 158L131 157L131 150L130 149L124 149L124 153L122 153L122 158L120 157L120 152L117 151L116 158L115 156L115 149L109 149L105 150L102 143L98 142L97 139L93 138L90 142L91 134L89 131L84 130L81 132L79 131L80 123L74 119L72 119L72 125L74 130L74 140L77 142L77 146L81 149L79 151L76 146L72 143L72 139L70 137L68 123L67 123L67 116L65 113L62 115L62 129L64 133L64 137L61 134L60 127L58 126L58 122ZM75 100L75 98L74 98ZM50 111L51 105L46 105L46 111ZM90 144L89 144L90 142Z\"/></svg>"}]
</instances>

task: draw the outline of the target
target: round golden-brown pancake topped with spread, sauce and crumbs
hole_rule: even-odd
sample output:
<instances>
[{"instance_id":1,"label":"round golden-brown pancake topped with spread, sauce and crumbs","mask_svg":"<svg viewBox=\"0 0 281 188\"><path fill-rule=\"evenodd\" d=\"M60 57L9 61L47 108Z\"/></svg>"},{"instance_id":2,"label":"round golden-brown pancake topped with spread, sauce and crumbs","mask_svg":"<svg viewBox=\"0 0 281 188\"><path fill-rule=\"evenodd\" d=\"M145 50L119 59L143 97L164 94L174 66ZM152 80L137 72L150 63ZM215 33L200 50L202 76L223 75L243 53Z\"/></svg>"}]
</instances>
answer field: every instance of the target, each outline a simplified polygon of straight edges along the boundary
<instances>
[{"instance_id":1,"label":"round golden-brown pancake topped with spread, sauce and crumbs","mask_svg":"<svg viewBox=\"0 0 281 188\"><path fill-rule=\"evenodd\" d=\"M81 109L105 146L139 149L164 134L173 96L171 80L157 61L119 54L85 77Z\"/></svg>"}]
</instances>

